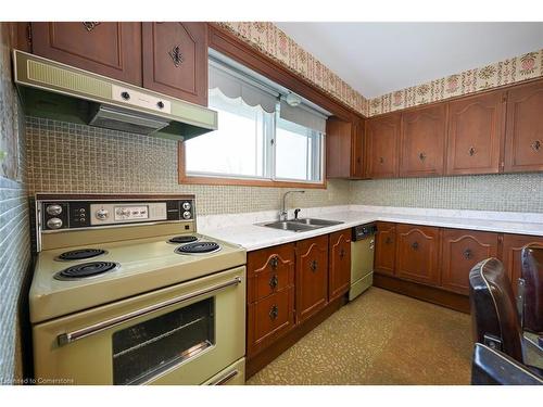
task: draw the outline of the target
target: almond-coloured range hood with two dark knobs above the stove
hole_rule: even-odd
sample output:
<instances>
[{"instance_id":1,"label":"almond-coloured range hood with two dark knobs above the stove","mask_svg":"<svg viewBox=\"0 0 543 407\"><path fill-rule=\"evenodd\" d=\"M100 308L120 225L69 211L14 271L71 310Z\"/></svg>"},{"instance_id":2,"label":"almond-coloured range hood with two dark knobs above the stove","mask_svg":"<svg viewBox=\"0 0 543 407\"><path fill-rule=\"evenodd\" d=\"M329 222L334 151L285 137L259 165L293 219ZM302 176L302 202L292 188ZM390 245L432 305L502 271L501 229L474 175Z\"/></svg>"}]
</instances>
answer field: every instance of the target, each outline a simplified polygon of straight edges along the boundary
<instances>
[{"instance_id":1,"label":"almond-coloured range hood with two dark knobs above the stove","mask_svg":"<svg viewBox=\"0 0 543 407\"><path fill-rule=\"evenodd\" d=\"M18 50L13 65L31 116L176 140L217 129L217 113L193 103Z\"/></svg>"}]
</instances>

